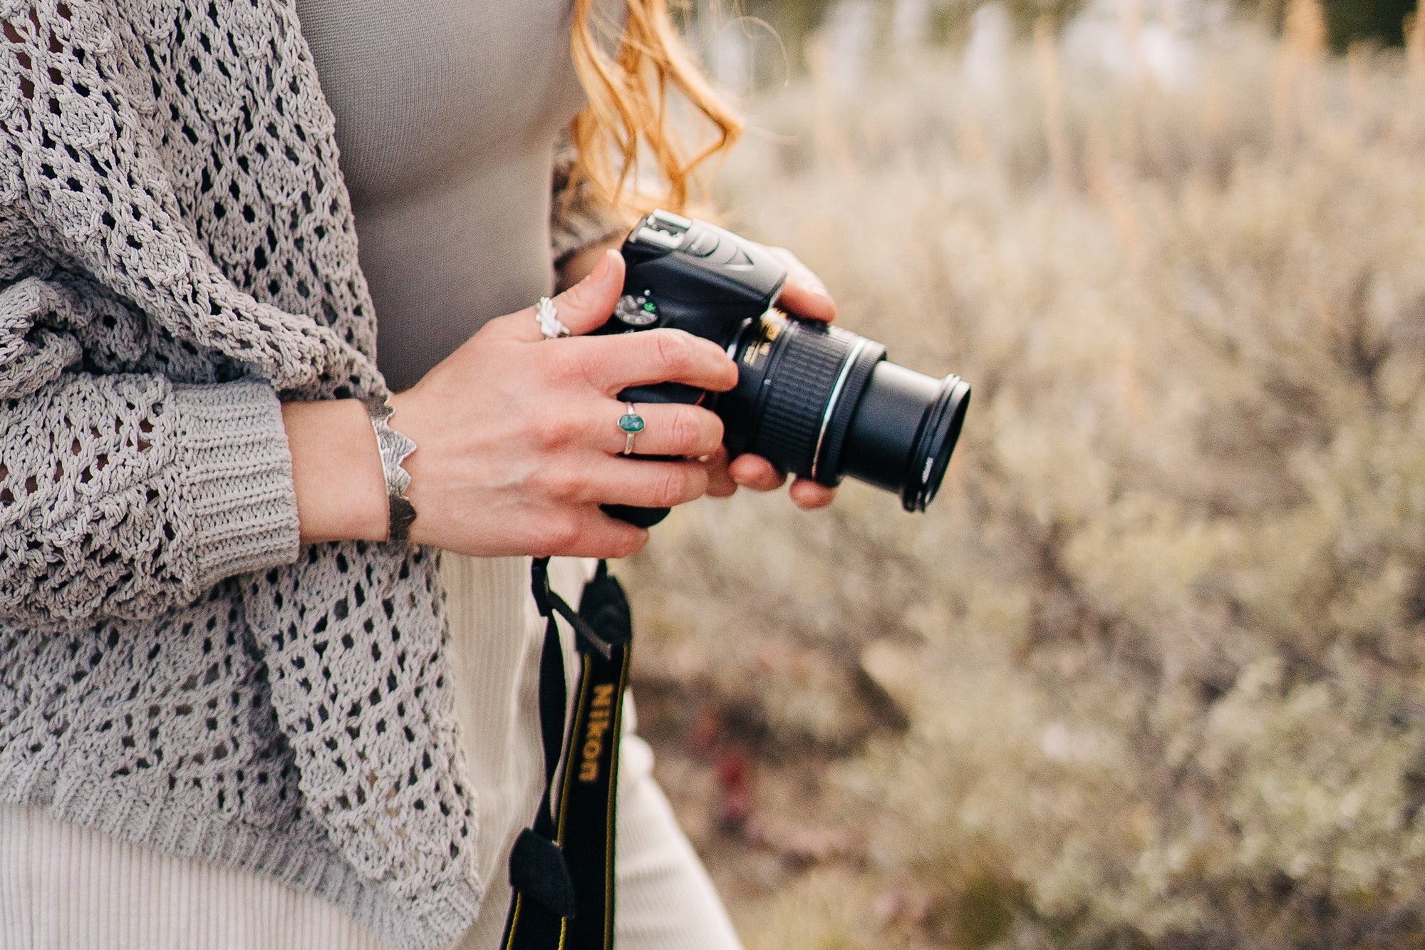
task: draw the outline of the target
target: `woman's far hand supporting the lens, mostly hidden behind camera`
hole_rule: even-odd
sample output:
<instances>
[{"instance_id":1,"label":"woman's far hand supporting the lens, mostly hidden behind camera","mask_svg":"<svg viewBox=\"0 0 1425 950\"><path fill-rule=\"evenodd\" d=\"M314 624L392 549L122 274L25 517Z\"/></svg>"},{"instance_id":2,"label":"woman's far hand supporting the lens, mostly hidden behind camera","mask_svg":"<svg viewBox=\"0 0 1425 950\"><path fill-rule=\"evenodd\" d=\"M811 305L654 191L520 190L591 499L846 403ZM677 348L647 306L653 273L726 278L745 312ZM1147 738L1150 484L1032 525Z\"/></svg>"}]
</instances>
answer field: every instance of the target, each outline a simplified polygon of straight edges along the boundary
<instances>
[{"instance_id":1,"label":"woman's far hand supporting the lens, mostly hidden behind camera","mask_svg":"<svg viewBox=\"0 0 1425 950\"><path fill-rule=\"evenodd\" d=\"M607 242L597 244L573 255L560 270L560 285L569 287L577 284L584 275L583 271L591 268L606 248L617 248L621 242L621 238L611 238ZM784 247L768 250L787 265L787 284L782 285L782 294L777 298L777 307L805 320L819 320L828 324L835 320L836 301L831 298L831 294L826 292L826 285L821 282L811 268ZM707 465L707 494L715 498L727 498L738 486L770 492L781 488L787 481L785 472L778 471L777 466L761 455L748 454L728 459L725 448L720 448L714 455L710 455ZM798 476L792 481L789 494L798 508L811 511L829 505L836 496L836 489L826 488L809 478Z\"/></svg>"}]
</instances>

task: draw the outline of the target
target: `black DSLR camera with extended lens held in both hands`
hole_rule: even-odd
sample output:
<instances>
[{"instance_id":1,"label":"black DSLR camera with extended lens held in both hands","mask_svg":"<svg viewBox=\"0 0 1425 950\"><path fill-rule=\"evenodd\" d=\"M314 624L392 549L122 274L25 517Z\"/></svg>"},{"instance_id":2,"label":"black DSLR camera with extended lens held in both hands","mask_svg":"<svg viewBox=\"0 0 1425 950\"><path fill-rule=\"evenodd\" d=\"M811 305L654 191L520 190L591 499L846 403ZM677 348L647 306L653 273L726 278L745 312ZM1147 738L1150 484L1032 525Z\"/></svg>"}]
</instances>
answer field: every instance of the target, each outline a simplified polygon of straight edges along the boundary
<instances>
[{"instance_id":1,"label":"black DSLR camera with extended lens held in both hands","mask_svg":"<svg viewBox=\"0 0 1425 950\"><path fill-rule=\"evenodd\" d=\"M886 361L874 339L771 310L787 268L765 247L668 211L623 245L624 295L600 334L685 330L737 361L730 392L674 382L633 387L624 402L703 402L722 418L728 452L755 452L822 485L851 475L899 492L906 511L935 498L965 422L970 387ZM656 525L665 508L607 505Z\"/></svg>"}]
</instances>

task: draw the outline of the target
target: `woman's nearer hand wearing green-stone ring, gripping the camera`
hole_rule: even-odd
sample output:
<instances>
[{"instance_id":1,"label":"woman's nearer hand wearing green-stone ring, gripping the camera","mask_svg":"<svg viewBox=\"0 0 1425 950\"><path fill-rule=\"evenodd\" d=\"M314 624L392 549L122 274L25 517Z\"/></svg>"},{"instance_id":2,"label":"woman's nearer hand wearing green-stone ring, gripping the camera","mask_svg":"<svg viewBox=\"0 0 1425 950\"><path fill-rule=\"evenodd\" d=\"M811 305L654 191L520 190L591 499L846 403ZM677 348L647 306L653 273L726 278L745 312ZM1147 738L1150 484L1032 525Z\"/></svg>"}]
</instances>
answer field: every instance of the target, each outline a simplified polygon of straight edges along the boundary
<instances>
[{"instance_id":1,"label":"woman's nearer hand wearing green-stone ring, gripping the camera","mask_svg":"<svg viewBox=\"0 0 1425 950\"><path fill-rule=\"evenodd\" d=\"M604 515L598 505L667 508L707 491L707 468L697 461L620 455L626 435L618 417L626 408L614 397L631 385L664 381L724 391L737 384L737 367L717 344L675 330L583 335L608 320L623 275L623 258L608 251L594 272L554 300L573 337L546 339L533 307L499 317L415 387L392 397L390 427L418 446L405 462L406 496L416 509L412 542L475 556L623 558L641 548L648 532ZM336 531L316 522L328 511L341 515L339 499L308 498L315 521L302 511L304 481L308 495L328 494L333 482L332 468L299 459L302 431L322 438L321 405L285 407L302 535L385 536L385 511L373 518L346 506L351 522L365 523ZM647 421L640 454L697 459L722 442L722 422L708 409L671 404L637 409ZM325 412L335 421L333 409ZM379 489L385 506L383 481L370 485L375 436L369 424L366 429L365 484L355 492L348 485L346 495L369 505ZM379 461L375 465L379 478Z\"/></svg>"}]
</instances>

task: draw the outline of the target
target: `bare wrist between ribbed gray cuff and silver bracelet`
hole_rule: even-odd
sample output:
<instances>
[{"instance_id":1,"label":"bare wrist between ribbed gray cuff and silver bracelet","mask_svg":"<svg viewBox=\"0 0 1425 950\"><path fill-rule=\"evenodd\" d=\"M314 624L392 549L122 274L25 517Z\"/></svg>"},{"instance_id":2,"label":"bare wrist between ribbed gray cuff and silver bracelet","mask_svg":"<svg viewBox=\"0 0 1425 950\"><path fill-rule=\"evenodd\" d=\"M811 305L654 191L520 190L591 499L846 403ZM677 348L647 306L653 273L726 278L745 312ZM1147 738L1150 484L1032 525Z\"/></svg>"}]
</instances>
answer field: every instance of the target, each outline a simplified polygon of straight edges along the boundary
<instances>
[{"instance_id":1,"label":"bare wrist between ribbed gray cuff and silver bracelet","mask_svg":"<svg viewBox=\"0 0 1425 950\"><path fill-rule=\"evenodd\" d=\"M296 516L305 543L383 541L386 478L366 405L359 399L284 402Z\"/></svg>"}]
</instances>

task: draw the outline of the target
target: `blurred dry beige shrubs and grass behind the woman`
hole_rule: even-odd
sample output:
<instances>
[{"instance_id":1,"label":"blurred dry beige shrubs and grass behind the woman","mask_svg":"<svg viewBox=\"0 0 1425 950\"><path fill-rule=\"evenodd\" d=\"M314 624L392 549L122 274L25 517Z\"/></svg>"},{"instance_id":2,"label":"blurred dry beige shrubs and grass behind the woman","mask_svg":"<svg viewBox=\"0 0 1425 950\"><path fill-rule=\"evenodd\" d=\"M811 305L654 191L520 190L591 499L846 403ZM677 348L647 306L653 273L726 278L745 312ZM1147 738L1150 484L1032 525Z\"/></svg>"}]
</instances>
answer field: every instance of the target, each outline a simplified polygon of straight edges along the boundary
<instances>
[{"instance_id":1,"label":"blurred dry beige shrubs and grass behind the woman","mask_svg":"<svg viewBox=\"0 0 1425 950\"><path fill-rule=\"evenodd\" d=\"M1425 947L1425 24L705 0L714 194L975 387L939 499L678 509L658 776L750 950Z\"/></svg>"}]
</instances>

